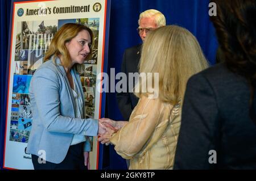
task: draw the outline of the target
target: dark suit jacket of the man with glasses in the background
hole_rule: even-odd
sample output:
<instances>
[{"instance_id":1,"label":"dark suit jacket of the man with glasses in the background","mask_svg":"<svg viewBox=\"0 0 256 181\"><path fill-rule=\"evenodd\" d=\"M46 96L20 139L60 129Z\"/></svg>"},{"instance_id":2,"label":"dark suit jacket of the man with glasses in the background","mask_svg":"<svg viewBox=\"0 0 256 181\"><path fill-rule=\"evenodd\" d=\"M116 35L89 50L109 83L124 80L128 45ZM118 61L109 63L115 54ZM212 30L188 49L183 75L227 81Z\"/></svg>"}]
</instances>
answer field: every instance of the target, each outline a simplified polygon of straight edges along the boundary
<instances>
[{"instance_id":1,"label":"dark suit jacket of the man with glasses in the background","mask_svg":"<svg viewBox=\"0 0 256 181\"><path fill-rule=\"evenodd\" d=\"M138 103L138 98L129 92L134 87L129 87L129 73L138 73L139 59L141 58L141 44L128 48L123 53L122 68L121 71L127 75L127 90L126 92L117 93L117 102L119 110L122 113L123 119L129 120L131 112Z\"/></svg>"}]
</instances>

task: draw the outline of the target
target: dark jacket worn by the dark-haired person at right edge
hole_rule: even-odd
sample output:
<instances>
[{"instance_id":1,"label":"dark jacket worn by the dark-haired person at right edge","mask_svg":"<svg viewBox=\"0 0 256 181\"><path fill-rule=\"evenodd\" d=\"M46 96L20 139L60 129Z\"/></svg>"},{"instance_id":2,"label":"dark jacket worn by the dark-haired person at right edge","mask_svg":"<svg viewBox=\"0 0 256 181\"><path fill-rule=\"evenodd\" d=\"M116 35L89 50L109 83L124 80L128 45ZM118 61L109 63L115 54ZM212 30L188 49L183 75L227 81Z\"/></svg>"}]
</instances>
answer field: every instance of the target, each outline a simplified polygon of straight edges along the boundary
<instances>
[{"instance_id":1,"label":"dark jacket worn by the dark-haired person at right edge","mask_svg":"<svg viewBox=\"0 0 256 181\"><path fill-rule=\"evenodd\" d=\"M187 83L174 169L256 169L256 125L246 79L225 64ZM216 150L217 163L210 150Z\"/></svg>"}]
</instances>

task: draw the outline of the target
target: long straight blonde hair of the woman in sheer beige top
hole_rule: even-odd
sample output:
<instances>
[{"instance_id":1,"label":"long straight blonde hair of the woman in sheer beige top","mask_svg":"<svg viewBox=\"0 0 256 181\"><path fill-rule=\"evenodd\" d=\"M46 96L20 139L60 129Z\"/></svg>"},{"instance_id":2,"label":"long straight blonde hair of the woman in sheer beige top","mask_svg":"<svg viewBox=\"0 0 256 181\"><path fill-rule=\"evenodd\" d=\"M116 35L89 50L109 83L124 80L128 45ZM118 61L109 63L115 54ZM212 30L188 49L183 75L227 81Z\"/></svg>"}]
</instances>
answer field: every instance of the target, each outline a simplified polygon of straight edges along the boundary
<instances>
[{"instance_id":1,"label":"long straight blonde hair of the woman in sheer beige top","mask_svg":"<svg viewBox=\"0 0 256 181\"><path fill-rule=\"evenodd\" d=\"M163 102L179 103L189 77L209 66L196 37L185 28L158 28L148 34L142 46L139 73L159 73L159 99ZM139 81L137 86L142 90L145 84ZM134 94L140 98L150 93Z\"/></svg>"}]
</instances>

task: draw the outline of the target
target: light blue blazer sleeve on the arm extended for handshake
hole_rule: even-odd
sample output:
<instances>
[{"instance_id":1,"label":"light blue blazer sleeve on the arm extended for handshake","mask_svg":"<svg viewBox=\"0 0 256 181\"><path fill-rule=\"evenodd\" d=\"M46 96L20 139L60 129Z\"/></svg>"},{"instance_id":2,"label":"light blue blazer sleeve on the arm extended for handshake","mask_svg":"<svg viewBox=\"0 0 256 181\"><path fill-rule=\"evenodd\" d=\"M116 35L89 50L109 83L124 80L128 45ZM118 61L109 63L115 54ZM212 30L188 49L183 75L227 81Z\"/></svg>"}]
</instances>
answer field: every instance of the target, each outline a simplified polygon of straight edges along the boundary
<instances>
[{"instance_id":1,"label":"light blue blazer sleeve on the arm extended for handshake","mask_svg":"<svg viewBox=\"0 0 256 181\"><path fill-rule=\"evenodd\" d=\"M68 111L65 107L72 106L72 103L64 106L61 104L61 100L68 99L67 89L61 89L66 86L61 80L61 75L49 68L38 69L33 75L30 95L34 98L34 103L31 104L36 106L36 109L32 108L33 117L39 118L34 121L40 121L38 124L42 124L49 132L97 136L97 120L61 115L60 112Z\"/></svg>"}]
</instances>

